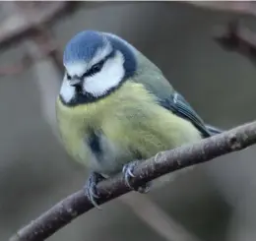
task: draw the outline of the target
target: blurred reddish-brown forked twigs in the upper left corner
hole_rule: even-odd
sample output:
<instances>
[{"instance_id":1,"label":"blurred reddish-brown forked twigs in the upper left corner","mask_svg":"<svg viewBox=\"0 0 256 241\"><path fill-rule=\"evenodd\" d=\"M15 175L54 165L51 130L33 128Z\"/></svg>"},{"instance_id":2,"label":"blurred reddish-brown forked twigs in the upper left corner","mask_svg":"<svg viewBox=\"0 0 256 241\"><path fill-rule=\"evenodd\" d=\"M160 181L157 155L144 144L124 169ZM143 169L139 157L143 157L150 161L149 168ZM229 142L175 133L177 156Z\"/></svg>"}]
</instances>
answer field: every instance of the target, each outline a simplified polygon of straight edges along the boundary
<instances>
[{"instance_id":1,"label":"blurred reddish-brown forked twigs in the upper left corner","mask_svg":"<svg viewBox=\"0 0 256 241\"><path fill-rule=\"evenodd\" d=\"M0 76L17 75L33 62L48 56L59 72L63 71L62 55L50 32L50 24L66 16L76 7L73 2L15 2L5 5L10 17L0 25L0 50L21 40L32 39L44 56L26 54L22 61L0 67ZM26 60L26 61L24 61Z\"/></svg>"}]
</instances>

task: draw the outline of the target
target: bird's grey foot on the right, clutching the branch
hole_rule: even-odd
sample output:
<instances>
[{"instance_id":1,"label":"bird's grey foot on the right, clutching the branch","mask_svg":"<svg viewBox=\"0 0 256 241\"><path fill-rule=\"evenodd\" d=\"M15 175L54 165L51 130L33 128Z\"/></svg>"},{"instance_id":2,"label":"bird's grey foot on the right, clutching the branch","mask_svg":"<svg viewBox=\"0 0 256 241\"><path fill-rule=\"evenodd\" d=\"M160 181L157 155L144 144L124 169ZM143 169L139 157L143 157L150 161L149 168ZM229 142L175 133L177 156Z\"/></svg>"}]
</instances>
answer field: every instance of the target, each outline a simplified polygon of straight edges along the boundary
<instances>
[{"instance_id":1,"label":"bird's grey foot on the right, clutching the branch","mask_svg":"<svg viewBox=\"0 0 256 241\"><path fill-rule=\"evenodd\" d=\"M134 174L133 174L133 170L134 170L134 167L136 165L138 165L139 163L139 160L134 160L134 161L131 161L127 164L125 164L123 166L123 174L124 174L124 180L125 180L125 184L130 187L131 189L139 192L139 193L148 193L150 191L150 183L146 183L140 187L132 187L131 184L130 184L130 179L135 177Z\"/></svg>"}]
</instances>

